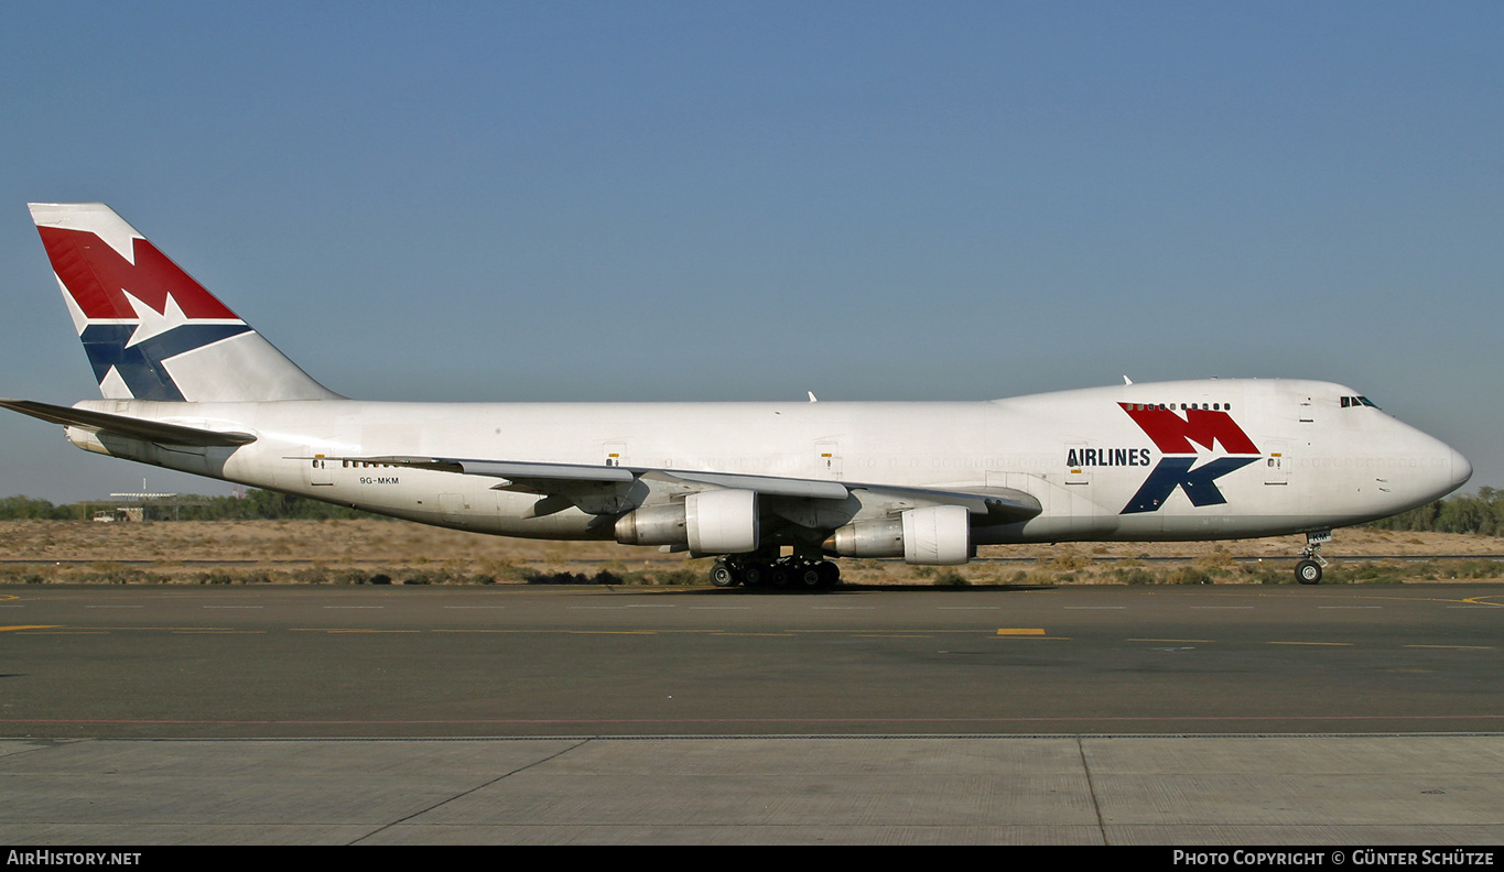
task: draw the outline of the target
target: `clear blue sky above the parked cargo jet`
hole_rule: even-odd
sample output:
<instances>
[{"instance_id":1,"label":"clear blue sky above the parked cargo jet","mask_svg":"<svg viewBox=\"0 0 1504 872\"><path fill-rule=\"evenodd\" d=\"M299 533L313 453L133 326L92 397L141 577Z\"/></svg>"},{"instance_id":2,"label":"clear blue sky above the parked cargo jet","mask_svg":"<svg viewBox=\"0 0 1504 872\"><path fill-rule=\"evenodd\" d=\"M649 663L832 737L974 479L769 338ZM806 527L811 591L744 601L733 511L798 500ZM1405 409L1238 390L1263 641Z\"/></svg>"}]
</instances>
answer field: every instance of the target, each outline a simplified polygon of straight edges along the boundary
<instances>
[{"instance_id":1,"label":"clear blue sky above the parked cargo jet","mask_svg":"<svg viewBox=\"0 0 1504 872\"><path fill-rule=\"evenodd\" d=\"M1504 486L1498 3L8 3L0 395L102 200L361 398L1345 382ZM0 496L223 493L0 415Z\"/></svg>"}]
</instances>

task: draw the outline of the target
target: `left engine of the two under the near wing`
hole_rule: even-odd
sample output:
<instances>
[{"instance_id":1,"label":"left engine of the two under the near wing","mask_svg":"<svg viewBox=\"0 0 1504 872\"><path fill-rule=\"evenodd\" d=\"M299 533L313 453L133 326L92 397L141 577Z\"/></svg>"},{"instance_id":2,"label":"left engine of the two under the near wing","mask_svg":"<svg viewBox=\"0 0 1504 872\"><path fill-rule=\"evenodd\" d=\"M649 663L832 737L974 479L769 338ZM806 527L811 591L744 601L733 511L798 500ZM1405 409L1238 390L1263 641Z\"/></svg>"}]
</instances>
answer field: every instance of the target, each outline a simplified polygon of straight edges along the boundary
<instances>
[{"instance_id":1,"label":"left engine of the two under the near wing","mask_svg":"<svg viewBox=\"0 0 1504 872\"><path fill-rule=\"evenodd\" d=\"M755 490L705 490L684 502L644 505L617 520L623 544L689 547L701 555L738 555L757 550Z\"/></svg>"}]
</instances>

